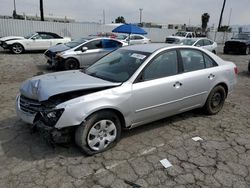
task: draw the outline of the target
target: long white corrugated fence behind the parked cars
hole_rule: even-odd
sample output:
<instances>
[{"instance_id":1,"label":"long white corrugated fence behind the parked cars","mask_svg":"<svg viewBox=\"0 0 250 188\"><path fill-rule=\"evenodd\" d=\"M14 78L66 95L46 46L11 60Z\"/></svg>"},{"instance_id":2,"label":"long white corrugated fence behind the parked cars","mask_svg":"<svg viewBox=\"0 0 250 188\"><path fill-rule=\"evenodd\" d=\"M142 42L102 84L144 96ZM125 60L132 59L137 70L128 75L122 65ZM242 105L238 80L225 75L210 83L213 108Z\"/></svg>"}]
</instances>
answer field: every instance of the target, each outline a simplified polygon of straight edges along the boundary
<instances>
[{"instance_id":1,"label":"long white corrugated fence behind the parked cars","mask_svg":"<svg viewBox=\"0 0 250 188\"><path fill-rule=\"evenodd\" d=\"M0 37L2 36L25 36L36 31L54 32L64 37L83 37L100 32L111 32L115 25L102 25L96 23L58 23L42 22L31 20L1 19L0 18ZM168 28L143 28L146 35L152 42L165 42L165 38L176 33L175 29ZM232 33L209 32L208 38L218 43L224 43L232 37Z\"/></svg>"}]
</instances>

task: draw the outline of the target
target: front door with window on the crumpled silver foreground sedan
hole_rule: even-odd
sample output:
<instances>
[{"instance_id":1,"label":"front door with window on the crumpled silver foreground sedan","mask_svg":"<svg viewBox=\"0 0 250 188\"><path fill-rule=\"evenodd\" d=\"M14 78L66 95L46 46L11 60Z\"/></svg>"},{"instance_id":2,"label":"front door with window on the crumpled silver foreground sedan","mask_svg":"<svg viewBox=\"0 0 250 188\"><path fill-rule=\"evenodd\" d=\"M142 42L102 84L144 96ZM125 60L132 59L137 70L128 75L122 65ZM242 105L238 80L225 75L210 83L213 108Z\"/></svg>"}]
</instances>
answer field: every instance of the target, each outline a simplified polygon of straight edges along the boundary
<instances>
[{"instance_id":1,"label":"front door with window on the crumpled silver foreground sedan","mask_svg":"<svg viewBox=\"0 0 250 188\"><path fill-rule=\"evenodd\" d=\"M162 52L142 71L132 86L133 124L173 115L181 108L177 52Z\"/></svg>"}]
</instances>

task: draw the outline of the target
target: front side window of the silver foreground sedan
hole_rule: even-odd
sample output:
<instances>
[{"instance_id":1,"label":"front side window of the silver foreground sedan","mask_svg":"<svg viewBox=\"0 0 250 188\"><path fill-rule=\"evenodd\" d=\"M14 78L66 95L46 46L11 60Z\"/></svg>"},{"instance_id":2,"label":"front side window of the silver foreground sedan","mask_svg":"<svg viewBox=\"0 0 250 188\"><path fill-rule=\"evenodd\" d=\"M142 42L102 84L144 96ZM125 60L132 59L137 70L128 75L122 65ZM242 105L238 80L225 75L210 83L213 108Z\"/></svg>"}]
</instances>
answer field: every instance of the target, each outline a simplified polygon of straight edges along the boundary
<instances>
[{"instance_id":1,"label":"front side window of the silver foreground sedan","mask_svg":"<svg viewBox=\"0 0 250 188\"><path fill-rule=\"evenodd\" d=\"M165 52L151 61L143 72L143 80L172 76L178 72L176 51Z\"/></svg>"}]
</instances>

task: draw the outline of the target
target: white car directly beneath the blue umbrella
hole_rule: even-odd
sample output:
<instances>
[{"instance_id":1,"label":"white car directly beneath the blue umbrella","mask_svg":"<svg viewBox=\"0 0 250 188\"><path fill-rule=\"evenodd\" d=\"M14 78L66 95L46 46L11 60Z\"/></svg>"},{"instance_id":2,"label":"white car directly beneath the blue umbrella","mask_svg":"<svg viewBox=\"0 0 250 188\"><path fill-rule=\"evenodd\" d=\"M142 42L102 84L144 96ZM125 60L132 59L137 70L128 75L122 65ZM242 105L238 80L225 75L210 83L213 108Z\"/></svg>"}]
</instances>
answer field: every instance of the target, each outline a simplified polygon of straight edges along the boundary
<instances>
[{"instance_id":1,"label":"white car directly beneath the blue umbrella","mask_svg":"<svg viewBox=\"0 0 250 188\"><path fill-rule=\"evenodd\" d=\"M131 34L130 37L129 35L123 34L123 35L118 35L116 37L117 40L120 40L122 42L129 42L129 45L133 45L133 44L148 44L151 42L150 39L148 39L147 37L143 36L143 35L139 35L139 34Z\"/></svg>"}]
</instances>

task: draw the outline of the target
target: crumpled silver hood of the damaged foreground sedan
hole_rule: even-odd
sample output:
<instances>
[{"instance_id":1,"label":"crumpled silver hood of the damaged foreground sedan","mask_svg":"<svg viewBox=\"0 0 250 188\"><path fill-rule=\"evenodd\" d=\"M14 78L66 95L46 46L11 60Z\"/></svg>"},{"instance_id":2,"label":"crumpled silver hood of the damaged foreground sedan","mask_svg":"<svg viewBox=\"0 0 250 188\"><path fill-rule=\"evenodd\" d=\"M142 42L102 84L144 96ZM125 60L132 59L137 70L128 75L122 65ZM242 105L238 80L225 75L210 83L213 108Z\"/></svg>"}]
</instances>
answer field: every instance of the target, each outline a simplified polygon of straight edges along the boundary
<instances>
[{"instance_id":1,"label":"crumpled silver hood of the damaged foreground sedan","mask_svg":"<svg viewBox=\"0 0 250 188\"><path fill-rule=\"evenodd\" d=\"M57 94L85 89L114 87L120 84L89 76L80 70L62 71L26 80L20 87L20 93L30 99L45 101Z\"/></svg>"}]
</instances>

